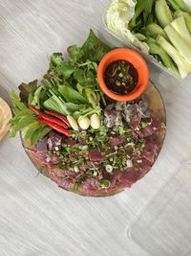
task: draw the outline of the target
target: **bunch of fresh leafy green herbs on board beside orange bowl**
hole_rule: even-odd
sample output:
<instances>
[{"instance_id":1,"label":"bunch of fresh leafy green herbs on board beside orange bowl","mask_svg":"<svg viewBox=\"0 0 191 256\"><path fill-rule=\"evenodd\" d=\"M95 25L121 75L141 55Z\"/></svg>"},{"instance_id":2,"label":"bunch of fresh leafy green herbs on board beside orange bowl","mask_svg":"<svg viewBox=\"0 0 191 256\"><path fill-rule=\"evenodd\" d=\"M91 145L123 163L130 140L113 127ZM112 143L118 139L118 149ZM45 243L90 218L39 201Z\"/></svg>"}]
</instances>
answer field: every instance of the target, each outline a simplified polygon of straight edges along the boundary
<instances>
[{"instance_id":1,"label":"bunch of fresh leafy green herbs on board beside orange bowl","mask_svg":"<svg viewBox=\"0 0 191 256\"><path fill-rule=\"evenodd\" d=\"M30 139L33 145L51 130L35 122L38 116L28 107L29 103L42 111L49 109L75 119L95 113L100 115L100 101L105 105L105 99L96 81L97 64L110 49L91 30L81 47L68 48L69 60L54 53L39 86L37 81L23 82L19 85L20 99L11 92L15 112L11 119L11 136L22 130L24 138Z\"/></svg>"}]
</instances>

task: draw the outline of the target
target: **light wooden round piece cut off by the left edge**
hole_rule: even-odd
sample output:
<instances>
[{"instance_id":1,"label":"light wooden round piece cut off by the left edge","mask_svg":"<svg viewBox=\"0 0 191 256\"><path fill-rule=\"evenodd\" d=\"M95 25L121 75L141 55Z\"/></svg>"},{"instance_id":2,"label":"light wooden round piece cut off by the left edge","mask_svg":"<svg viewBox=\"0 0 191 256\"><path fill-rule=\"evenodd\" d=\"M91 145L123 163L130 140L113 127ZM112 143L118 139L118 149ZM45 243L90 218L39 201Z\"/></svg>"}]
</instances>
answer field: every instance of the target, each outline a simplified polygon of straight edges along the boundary
<instances>
[{"instance_id":1,"label":"light wooden round piece cut off by the left edge","mask_svg":"<svg viewBox=\"0 0 191 256\"><path fill-rule=\"evenodd\" d=\"M0 98L0 141L5 137L9 131L10 126L8 125L11 120L11 108L10 106Z\"/></svg>"}]
</instances>

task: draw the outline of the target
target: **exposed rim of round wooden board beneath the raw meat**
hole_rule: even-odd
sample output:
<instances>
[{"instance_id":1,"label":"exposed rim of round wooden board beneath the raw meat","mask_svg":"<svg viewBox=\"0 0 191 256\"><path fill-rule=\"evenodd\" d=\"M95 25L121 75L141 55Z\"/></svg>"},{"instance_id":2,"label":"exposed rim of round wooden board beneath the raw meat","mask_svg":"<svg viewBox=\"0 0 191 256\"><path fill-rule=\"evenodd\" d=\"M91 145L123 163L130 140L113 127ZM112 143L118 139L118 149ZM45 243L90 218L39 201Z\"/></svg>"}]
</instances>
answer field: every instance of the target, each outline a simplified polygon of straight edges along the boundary
<instances>
[{"instance_id":1,"label":"exposed rim of round wooden board beneath the raw meat","mask_svg":"<svg viewBox=\"0 0 191 256\"><path fill-rule=\"evenodd\" d=\"M144 96L149 103L148 110L153 115L157 116L163 124L166 124L166 113L165 113L163 101L161 99L161 95L159 93L159 90L154 86L154 84L151 81L149 81L147 89L144 92ZM165 137L165 128L162 128L159 131L159 151L161 150L164 137ZM21 135L21 139L22 139L23 147L24 147L25 151L27 152L28 156L30 157L30 159L32 160L32 163L34 164L36 169L41 174L49 176L48 174L49 174L50 170L47 167L43 167L42 165L40 165L39 162L36 160L35 155L32 151L32 146L30 145L29 141L24 141L22 138L22 135ZM157 157L156 157L156 159L157 159ZM148 170L148 172L149 172L149 170ZM97 193L97 197L113 196L121 191L122 191L121 189L118 190L117 188L115 188L112 192L110 192L110 194L107 194L107 195L104 192L100 191L99 193ZM77 194L79 194L79 193L77 193ZM86 195L82 195L82 196L86 196Z\"/></svg>"}]
</instances>

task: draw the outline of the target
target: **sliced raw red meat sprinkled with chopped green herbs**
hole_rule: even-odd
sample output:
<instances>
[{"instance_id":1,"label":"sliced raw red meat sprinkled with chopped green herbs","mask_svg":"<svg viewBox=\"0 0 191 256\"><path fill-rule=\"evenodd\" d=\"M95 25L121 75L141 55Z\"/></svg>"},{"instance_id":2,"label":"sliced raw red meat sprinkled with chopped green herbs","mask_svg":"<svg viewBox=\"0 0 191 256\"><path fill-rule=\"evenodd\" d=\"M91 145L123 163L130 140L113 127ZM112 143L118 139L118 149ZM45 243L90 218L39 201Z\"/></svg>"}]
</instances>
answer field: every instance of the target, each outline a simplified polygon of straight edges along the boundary
<instances>
[{"instance_id":1,"label":"sliced raw red meat sprinkled with chopped green herbs","mask_svg":"<svg viewBox=\"0 0 191 256\"><path fill-rule=\"evenodd\" d=\"M32 162L79 195L110 196L130 188L151 169L164 136L165 121L148 105L145 97L108 104L97 131L80 129L66 137L52 130L28 151Z\"/></svg>"}]
</instances>

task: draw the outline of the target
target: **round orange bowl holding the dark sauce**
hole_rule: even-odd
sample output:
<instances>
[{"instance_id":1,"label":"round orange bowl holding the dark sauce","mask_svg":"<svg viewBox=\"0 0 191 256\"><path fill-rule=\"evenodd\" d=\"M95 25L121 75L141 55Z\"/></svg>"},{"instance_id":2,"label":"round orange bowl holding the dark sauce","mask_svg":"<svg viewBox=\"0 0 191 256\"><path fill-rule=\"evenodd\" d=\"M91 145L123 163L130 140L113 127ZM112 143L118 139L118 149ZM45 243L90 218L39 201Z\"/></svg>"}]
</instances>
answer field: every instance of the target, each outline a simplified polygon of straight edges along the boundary
<instances>
[{"instance_id":1,"label":"round orange bowl holding the dark sauce","mask_svg":"<svg viewBox=\"0 0 191 256\"><path fill-rule=\"evenodd\" d=\"M112 92L104 81L104 72L107 66L117 60L129 61L138 71L138 84L133 91L125 95L118 95ZM103 58L101 58L97 69L97 80L101 90L111 99L118 102L133 101L146 89L149 81L149 71L144 58L142 58L137 52L127 48L118 48L110 51Z\"/></svg>"}]
</instances>

